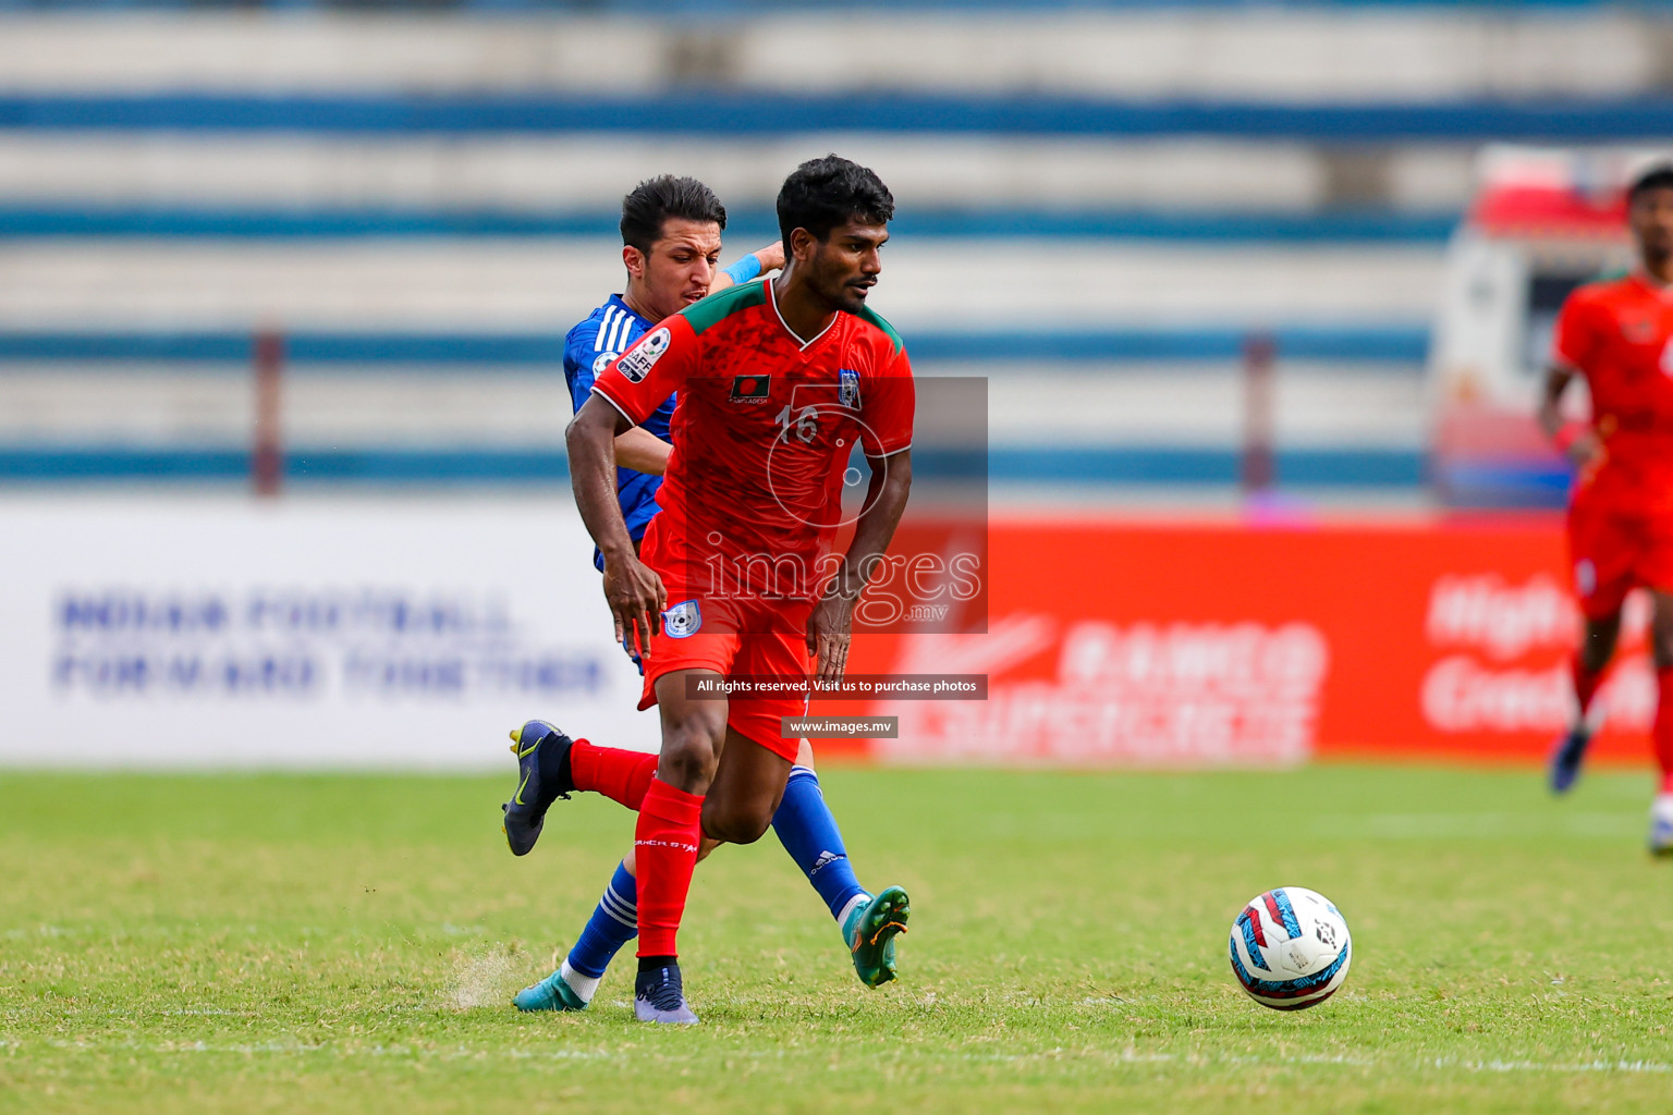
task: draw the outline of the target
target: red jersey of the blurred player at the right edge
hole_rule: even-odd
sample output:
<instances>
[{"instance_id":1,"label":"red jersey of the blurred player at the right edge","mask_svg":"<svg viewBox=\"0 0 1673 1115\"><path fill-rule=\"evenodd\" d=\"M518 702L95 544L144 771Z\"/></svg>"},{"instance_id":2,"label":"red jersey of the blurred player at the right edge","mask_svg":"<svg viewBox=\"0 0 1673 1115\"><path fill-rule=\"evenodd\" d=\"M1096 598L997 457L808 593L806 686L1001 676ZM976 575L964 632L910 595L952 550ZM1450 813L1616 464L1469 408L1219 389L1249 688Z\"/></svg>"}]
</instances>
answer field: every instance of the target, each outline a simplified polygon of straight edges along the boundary
<instances>
[{"instance_id":1,"label":"red jersey of the blurred player at the right edge","mask_svg":"<svg viewBox=\"0 0 1673 1115\"><path fill-rule=\"evenodd\" d=\"M1574 498L1673 515L1673 289L1643 274L1581 286L1558 314L1554 349L1586 376L1604 450Z\"/></svg>"}]
</instances>

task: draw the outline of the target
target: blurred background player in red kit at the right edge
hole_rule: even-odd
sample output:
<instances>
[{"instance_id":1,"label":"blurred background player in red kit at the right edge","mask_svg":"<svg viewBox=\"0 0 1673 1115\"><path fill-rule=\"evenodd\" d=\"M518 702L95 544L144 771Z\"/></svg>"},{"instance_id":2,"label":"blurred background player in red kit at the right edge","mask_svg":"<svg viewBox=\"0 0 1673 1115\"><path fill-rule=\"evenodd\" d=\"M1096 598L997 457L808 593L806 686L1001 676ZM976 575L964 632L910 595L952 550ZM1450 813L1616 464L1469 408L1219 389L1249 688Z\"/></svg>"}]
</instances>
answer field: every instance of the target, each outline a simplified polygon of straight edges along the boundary
<instances>
[{"instance_id":1,"label":"blurred background player in red kit at the right edge","mask_svg":"<svg viewBox=\"0 0 1673 1115\"><path fill-rule=\"evenodd\" d=\"M1574 588L1586 619L1574 655L1578 715L1551 756L1551 789L1579 774L1598 692L1631 588L1653 598L1651 654L1660 704L1655 751L1661 782L1650 849L1673 853L1673 164L1628 189L1640 266L1581 286L1558 314L1554 359L1539 423L1578 468L1568 535ZM1584 376L1591 421L1564 425L1563 391Z\"/></svg>"}]
</instances>

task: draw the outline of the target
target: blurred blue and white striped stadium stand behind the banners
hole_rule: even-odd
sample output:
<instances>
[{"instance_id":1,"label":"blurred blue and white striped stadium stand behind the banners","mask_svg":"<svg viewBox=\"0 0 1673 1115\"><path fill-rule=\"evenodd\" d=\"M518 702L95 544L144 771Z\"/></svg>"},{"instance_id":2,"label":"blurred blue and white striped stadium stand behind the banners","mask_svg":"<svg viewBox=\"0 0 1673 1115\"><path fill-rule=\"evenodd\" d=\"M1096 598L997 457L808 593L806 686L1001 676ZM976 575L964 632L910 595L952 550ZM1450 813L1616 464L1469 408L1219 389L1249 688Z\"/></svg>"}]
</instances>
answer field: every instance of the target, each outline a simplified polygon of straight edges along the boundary
<instances>
[{"instance_id":1,"label":"blurred blue and white striped stadium stand behind the banners","mask_svg":"<svg viewBox=\"0 0 1673 1115\"><path fill-rule=\"evenodd\" d=\"M1270 336L1280 478L1415 493L1476 145L1673 132L1661 5L922 3L860 59L813 5L271 7L0 5L0 480L243 476L276 331L299 478L549 483L621 192L698 174L743 249L835 149L997 481L1230 485Z\"/></svg>"}]
</instances>

